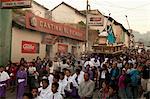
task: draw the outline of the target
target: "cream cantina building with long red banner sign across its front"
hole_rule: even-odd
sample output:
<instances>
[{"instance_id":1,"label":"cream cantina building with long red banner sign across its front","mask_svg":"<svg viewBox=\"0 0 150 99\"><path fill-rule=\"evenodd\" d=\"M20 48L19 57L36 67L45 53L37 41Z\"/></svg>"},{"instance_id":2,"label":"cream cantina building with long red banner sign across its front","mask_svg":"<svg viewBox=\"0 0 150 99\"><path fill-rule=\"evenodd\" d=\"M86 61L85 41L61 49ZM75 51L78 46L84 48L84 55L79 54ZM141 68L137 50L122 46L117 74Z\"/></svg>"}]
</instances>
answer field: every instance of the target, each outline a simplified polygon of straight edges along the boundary
<instances>
[{"instance_id":1,"label":"cream cantina building with long red banner sign across its front","mask_svg":"<svg viewBox=\"0 0 150 99\"><path fill-rule=\"evenodd\" d=\"M36 2L21 12L25 10L32 13L15 13L13 18L12 62L19 62L22 57L32 61L37 56L43 59L53 58L56 53L79 55L82 52L83 31L48 19L48 9Z\"/></svg>"}]
</instances>

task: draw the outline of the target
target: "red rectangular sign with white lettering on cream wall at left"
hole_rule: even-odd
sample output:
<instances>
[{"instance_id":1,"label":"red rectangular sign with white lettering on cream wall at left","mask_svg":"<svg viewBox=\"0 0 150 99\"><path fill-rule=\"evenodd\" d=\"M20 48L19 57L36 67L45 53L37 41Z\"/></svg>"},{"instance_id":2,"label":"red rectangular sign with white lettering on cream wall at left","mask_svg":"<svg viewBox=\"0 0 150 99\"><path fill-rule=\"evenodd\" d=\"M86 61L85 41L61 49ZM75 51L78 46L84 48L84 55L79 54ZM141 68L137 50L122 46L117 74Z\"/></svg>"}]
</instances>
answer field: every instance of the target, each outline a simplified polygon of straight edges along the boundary
<instances>
[{"instance_id":1,"label":"red rectangular sign with white lettering on cream wall at left","mask_svg":"<svg viewBox=\"0 0 150 99\"><path fill-rule=\"evenodd\" d=\"M39 53L39 43L22 41L22 53Z\"/></svg>"}]
</instances>

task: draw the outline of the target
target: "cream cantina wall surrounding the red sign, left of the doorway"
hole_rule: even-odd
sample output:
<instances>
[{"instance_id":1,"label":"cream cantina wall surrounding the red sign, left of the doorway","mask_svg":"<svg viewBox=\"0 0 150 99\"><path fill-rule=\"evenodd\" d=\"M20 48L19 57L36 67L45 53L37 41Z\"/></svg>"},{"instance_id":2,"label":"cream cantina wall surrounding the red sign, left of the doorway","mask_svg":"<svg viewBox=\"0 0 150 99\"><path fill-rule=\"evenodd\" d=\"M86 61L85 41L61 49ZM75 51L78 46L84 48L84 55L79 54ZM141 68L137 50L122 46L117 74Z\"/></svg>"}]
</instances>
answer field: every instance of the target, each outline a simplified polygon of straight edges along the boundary
<instances>
[{"instance_id":1,"label":"cream cantina wall surrounding the red sign, left of the doorway","mask_svg":"<svg viewBox=\"0 0 150 99\"><path fill-rule=\"evenodd\" d=\"M39 54L28 54L22 53L22 41L30 41L40 44ZM19 29L13 27L12 29L12 49L11 49L11 60L13 62L19 62L20 58L24 57L27 61L35 59L37 56L41 58L45 57L46 54L46 45L41 44L42 36L39 32L31 32L28 30Z\"/></svg>"}]
</instances>

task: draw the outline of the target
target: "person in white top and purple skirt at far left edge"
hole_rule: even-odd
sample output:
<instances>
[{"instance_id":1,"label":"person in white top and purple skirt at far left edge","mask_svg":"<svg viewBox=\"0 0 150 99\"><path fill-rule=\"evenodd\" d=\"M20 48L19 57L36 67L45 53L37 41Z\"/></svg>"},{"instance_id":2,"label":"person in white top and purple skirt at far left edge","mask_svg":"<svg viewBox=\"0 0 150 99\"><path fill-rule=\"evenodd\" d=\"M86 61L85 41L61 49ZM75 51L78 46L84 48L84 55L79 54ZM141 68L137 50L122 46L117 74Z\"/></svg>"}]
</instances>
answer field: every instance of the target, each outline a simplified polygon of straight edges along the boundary
<instances>
[{"instance_id":1,"label":"person in white top and purple skirt at far left edge","mask_svg":"<svg viewBox=\"0 0 150 99\"><path fill-rule=\"evenodd\" d=\"M0 66L0 99L6 98L6 86L10 79L7 72L4 71L4 67Z\"/></svg>"}]
</instances>

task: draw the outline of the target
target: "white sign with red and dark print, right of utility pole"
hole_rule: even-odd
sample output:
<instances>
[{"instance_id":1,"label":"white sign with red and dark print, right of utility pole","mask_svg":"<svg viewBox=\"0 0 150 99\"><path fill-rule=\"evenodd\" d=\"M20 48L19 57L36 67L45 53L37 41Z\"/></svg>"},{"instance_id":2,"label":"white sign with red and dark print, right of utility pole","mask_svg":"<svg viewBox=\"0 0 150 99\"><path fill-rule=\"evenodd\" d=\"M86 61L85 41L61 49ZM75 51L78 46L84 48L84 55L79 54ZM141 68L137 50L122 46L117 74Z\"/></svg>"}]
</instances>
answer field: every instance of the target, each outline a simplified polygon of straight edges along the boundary
<instances>
[{"instance_id":1,"label":"white sign with red and dark print, right of utility pole","mask_svg":"<svg viewBox=\"0 0 150 99\"><path fill-rule=\"evenodd\" d=\"M104 24L104 17L100 15L89 15L88 25L90 26L102 26Z\"/></svg>"}]
</instances>

